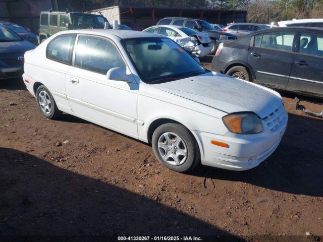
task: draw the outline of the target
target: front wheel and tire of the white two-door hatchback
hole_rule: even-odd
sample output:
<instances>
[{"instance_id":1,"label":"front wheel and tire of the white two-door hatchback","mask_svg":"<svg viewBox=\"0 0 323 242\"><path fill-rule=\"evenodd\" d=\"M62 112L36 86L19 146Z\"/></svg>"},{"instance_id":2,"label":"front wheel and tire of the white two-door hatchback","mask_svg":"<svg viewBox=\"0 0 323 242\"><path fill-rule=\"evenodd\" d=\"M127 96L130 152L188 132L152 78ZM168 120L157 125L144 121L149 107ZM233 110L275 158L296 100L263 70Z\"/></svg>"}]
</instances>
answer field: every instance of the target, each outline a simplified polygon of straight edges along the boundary
<instances>
[{"instance_id":1,"label":"front wheel and tire of the white two-door hatchback","mask_svg":"<svg viewBox=\"0 0 323 242\"><path fill-rule=\"evenodd\" d=\"M180 124L159 126L153 132L151 143L158 161L171 170L187 172L201 161L194 136Z\"/></svg>"}]
</instances>

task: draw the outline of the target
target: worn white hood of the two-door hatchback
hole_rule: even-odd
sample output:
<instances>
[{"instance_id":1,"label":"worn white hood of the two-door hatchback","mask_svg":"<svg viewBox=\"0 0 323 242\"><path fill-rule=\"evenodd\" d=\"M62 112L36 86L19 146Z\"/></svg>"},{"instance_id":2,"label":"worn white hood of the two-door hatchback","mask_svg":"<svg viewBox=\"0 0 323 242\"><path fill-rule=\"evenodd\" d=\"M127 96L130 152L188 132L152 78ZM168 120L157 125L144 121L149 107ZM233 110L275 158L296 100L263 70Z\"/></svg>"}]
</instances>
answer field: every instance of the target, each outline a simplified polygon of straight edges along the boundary
<instances>
[{"instance_id":1,"label":"worn white hood of the two-door hatchback","mask_svg":"<svg viewBox=\"0 0 323 242\"><path fill-rule=\"evenodd\" d=\"M271 89L219 73L151 86L227 113L251 111L260 118L272 113L283 102Z\"/></svg>"}]
</instances>

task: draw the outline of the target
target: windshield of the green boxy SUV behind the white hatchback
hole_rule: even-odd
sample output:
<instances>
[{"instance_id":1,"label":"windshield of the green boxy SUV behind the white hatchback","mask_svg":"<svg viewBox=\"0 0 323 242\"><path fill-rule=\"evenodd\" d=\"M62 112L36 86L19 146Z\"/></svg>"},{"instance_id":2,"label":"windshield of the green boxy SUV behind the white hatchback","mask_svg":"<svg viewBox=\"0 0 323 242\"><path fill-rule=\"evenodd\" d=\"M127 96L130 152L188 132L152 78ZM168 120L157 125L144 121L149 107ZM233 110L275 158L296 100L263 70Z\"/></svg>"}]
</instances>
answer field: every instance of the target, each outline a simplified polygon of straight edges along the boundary
<instances>
[{"instance_id":1,"label":"windshield of the green boxy SUV behind the white hatchback","mask_svg":"<svg viewBox=\"0 0 323 242\"><path fill-rule=\"evenodd\" d=\"M103 29L107 20L94 14L72 14L74 29Z\"/></svg>"}]
</instances>

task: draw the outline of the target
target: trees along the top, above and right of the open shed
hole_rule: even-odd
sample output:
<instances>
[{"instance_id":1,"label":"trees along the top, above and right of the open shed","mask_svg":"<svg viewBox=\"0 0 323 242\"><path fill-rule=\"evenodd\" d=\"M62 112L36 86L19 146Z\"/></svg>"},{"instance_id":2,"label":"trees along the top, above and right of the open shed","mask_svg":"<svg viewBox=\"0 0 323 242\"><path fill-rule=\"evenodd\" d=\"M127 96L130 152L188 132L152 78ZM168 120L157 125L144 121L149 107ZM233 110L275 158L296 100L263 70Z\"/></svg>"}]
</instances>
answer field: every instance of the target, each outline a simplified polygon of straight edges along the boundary
<instances>
[{"instance_id":1,"label":"trees along the top, above and right of the open shed","mask_svg":"<svg viewBox=\"0 0 323 242\"><path fill-rule=\"evenodd\" d=\"M250 23L323 18L323 0L58 0L58 3L81 11L116 5L247 10Z\"/></svg>"}]
</instances>

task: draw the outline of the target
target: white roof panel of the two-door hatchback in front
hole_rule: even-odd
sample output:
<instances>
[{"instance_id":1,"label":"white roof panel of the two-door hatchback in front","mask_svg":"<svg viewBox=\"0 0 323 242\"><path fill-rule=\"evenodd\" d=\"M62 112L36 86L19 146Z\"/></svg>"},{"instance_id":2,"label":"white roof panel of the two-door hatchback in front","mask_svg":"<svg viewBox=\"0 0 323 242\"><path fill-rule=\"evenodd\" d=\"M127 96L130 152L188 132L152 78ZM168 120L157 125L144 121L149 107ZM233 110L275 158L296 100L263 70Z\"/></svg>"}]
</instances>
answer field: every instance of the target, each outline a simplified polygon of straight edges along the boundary
<instances>
[{"instance_id":1,"label":"white roof panel of the two-door hatchback in front","mask_svg":"<svg viewBox=\"0 0 323 242\"><path fill-rule=\"evenodd\" d=\"M105 37L111 37L112 35L114 35L121 39L165 37L164 35L157 35L157 34L140 32L140 31L121 30L121 29L77 29L77 30L61 31L60 33L90 34L90 35L99 35L99 36L105 36Z\"/></svg>"}]
</instances>

